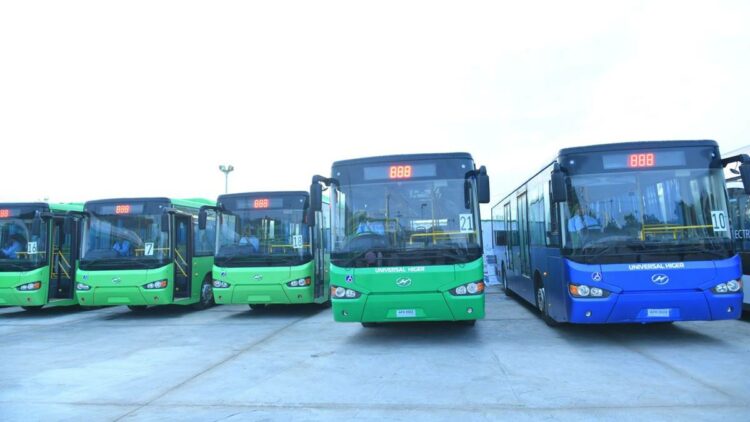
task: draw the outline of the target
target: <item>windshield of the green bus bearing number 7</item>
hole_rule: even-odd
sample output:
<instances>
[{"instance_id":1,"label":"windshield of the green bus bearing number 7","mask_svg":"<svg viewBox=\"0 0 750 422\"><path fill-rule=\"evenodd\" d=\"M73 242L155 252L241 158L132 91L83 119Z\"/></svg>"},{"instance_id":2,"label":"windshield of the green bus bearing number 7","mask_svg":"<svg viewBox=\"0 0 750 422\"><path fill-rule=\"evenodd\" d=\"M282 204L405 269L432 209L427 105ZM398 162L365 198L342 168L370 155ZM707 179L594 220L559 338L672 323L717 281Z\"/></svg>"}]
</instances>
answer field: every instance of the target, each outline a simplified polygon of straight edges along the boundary
<instances>
[{"instance_id":1,"label":"windshield of the green bus bearing number 7","mask_svg":"<svg viewBox=\"0 0 750 422\"><path fill-rule=\"evenodd\" d=\"M155 268L170 259L161 214L91 213L83 230L82 269Z\"/></svg>"}]
</instances>

